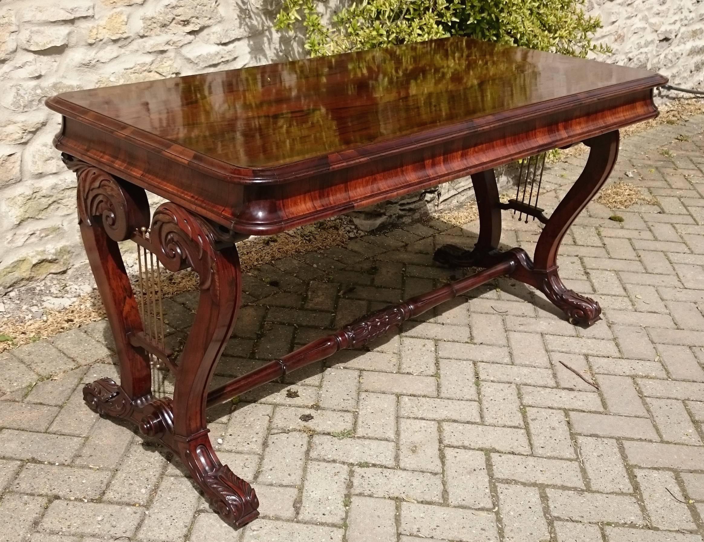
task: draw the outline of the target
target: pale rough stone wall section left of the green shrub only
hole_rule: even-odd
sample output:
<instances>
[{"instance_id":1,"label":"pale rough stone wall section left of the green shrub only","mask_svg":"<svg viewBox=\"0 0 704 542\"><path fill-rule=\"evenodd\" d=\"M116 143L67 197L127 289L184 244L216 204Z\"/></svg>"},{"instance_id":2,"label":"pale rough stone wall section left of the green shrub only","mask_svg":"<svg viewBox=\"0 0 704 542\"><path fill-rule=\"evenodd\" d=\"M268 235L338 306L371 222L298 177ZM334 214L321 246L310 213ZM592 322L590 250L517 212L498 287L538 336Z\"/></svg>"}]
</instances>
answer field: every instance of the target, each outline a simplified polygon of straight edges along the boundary
<instances>
[{"instance_id":1,"label":"pale rough stone wall section left of the green shrub only","mask_svg":"<svg viewBox=\"0 0 704 542\"><path fill-rule=\"evenodd\" d=\"M44 99L285 60L272 0L0 0L0 289L84 261ZM0 291L0 295L2 292Z\"/></svg>"}]
</instances>

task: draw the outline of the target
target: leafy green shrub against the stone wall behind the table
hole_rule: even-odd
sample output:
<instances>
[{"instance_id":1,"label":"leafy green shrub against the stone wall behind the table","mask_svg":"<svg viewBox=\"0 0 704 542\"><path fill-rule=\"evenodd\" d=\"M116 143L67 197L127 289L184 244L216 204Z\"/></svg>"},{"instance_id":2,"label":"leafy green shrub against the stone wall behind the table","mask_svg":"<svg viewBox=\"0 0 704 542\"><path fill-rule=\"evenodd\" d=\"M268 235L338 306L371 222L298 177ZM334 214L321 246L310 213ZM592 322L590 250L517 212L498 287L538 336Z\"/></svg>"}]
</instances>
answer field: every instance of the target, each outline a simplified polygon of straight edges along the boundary
<instances>
[{"instance_id":1,"label":"leafy green shrub against the stone wall behind the table","mask_svg":"<svg viewBox=\"0 0 704 542\"><path fill-rule=\"evenodd\" d=\"M311 56L467 36L572 56L608 52L591 41L601 28L584 13L585 0L362 0L341 9L327 26L324 0L284 0L276 27L302 20Z\"/></svg>"}]
</instances>

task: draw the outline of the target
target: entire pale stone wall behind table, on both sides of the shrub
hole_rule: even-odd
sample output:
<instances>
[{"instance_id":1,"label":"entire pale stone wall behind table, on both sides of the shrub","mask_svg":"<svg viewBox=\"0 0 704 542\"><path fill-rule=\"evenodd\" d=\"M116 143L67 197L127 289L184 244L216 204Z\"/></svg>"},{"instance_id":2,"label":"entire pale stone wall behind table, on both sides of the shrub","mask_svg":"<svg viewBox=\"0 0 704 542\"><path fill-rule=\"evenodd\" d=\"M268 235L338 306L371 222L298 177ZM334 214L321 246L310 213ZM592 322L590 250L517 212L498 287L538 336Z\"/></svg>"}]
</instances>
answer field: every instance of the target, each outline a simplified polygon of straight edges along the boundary
<instances>
[{"instance_id":1,"label":"entire pale stone wall behind table, on both sides of the shrub","mask_svg":"<svg viewBox=\"0 0 704 542\"><path fill-rule=\"evenodd\" d=\"M58 115L44 99L301 56L298 41L272 30L278 1L0 0L0 295L84 262L75 178L51 146ZM591 1L607 23L612 60L701 85L704 1ZM384 223L470 195L459 180L357 218Z\"/></svg>"}]
</instances>

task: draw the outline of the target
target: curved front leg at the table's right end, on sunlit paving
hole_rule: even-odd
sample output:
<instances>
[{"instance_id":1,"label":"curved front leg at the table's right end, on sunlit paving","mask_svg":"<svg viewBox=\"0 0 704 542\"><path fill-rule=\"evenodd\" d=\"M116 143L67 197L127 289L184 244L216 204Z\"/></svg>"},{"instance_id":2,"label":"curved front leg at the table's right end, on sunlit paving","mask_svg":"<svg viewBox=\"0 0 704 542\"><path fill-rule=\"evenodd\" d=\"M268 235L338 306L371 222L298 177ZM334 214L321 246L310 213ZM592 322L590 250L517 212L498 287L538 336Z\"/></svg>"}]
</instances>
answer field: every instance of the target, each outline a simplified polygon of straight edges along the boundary
<instances>
[{"instance_id":1,"label":"curved front leg at the table's right end, on sunlit paving","mask_svg":"<svg viewBox=\"0 0 704 542\"><path fill-rule=\"evenodd\" d=\"M522 280L541 290L556 307L565 311L572 323L591 325L600 319L601 307L593 299L567 289L558 275L557 255L567 229L608 179L618 156L619 133L611 131L588 139L584 144L591 148L584 171L543 228L533 269L529 271L532 280Z\"/></svg>"}]
</instances>

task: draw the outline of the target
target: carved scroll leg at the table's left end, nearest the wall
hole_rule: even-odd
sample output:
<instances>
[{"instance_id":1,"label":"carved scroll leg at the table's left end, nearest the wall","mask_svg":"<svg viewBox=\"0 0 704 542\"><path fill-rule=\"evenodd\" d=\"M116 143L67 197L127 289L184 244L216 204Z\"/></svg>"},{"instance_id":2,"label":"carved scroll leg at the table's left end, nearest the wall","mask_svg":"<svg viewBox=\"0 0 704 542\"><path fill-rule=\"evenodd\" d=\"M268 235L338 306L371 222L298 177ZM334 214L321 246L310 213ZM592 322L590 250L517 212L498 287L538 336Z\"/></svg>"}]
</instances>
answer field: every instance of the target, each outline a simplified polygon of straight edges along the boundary
<instances>
[{"instance_id":1,"label":"carved scroll leg at the table's left end, nearest the wall","mask_svg":"<svg viewBox=\"0 0 704 542\"><path fill-rule=\"evenodd\" d=\"M128 333L142 330L142 321L118 247L118 241L129 238L134 229L149 225L146 193L68 155L63 155L63 160L77 174L81 236L115 338L122 392L130 400L149 400L149 359L144 351L135 349L127 340ZM84 389L84 396L94 411L127 415L121 407L120 414L114 412L113 392L114 389L106 392L96 383Z\"/></svg>"}]
</instances>

